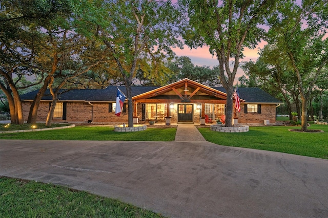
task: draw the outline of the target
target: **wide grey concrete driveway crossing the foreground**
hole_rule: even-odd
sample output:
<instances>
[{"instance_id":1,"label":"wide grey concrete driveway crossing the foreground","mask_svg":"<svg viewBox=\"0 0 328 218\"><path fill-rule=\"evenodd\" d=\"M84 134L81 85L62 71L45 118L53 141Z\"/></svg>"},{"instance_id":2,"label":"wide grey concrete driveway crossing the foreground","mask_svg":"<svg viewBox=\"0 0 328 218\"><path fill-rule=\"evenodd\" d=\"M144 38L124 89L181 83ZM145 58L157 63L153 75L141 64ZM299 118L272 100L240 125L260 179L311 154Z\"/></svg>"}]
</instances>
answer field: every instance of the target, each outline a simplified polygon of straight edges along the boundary
<instances>
[{"instance_id":1,"label":"wide grey concrete driveway crossing the foreground","mask_svg":"<svg viewBox=\"0 0 328 218\"><path fill-rule=\"evenodd\" d=\"M328 217L328 160L206 141L1 140L0 175L170 217Z\"/></svg>"}]
</instances>

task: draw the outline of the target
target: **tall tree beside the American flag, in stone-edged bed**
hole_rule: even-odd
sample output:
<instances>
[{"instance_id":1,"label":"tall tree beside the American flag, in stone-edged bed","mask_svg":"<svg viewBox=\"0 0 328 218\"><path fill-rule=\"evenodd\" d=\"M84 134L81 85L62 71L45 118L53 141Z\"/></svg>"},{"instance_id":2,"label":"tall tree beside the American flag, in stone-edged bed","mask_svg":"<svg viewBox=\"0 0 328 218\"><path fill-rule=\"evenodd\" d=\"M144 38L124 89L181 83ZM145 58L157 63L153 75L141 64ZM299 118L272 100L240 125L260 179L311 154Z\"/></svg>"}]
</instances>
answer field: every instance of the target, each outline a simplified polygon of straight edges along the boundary
<instances>
[{"instance_id":1,"label":"tall tree beside the American flag, in stone-edged bed","mask_svg":"<svg viewBox=\"0 0 328 218\"><path fill-rule=\"evenodd\" d=\"M227 90L226 126L232 126L233 82L244 47L254 48L263 36L259 28L277 1L180 0L187 8L189 28L184 38L191 48L208 46L219 61L220 80ZM230 64L233 61L233 68Z\"/></svg>"}]
</instances>

